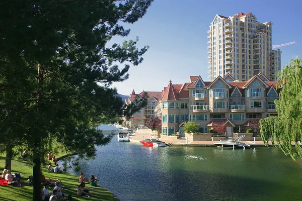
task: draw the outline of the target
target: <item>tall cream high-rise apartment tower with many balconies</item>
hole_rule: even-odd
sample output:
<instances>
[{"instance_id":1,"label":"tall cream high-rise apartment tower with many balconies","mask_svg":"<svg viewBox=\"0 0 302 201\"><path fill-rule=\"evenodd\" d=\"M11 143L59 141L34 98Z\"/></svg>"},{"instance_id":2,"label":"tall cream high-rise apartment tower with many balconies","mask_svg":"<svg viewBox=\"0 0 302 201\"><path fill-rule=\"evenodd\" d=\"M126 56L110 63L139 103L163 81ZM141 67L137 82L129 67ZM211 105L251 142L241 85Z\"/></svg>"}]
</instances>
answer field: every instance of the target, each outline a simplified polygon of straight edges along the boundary
<instances>
[{"instance_id":1,"label":"tall cream high-rise apartment tower with many balconies","mask_svg":"<svg viewBox=\"0 0 302 201\"><path fill-rule=\"evenodd\" d=\"M272 50L272 23L257 22L250 12L233 17L216 15L208 35L208 78L232 75L247 81L262 73L269 80L281 69L281 51Z\"/></svg>"}]
</instances>

